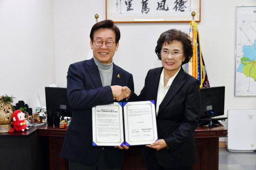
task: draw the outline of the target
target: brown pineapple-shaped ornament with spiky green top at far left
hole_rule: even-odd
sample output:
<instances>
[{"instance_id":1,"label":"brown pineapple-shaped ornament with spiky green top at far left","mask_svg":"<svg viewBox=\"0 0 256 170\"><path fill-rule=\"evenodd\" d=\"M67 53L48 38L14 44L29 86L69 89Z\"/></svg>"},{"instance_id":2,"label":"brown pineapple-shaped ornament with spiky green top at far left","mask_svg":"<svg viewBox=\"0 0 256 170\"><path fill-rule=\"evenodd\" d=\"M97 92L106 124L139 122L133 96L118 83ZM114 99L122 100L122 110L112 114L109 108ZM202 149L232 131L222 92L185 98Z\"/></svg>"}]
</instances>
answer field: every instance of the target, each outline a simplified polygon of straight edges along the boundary
<instances>
[{"instance_id":1,"label":"brown pineapple-shaped ornament with spiky green top at far left","mask_svg":"<svg viewBox=\"0 0 256 170\"><path fill-rule=\"evenodd\" d=\"M5 133L11 130L11 120L13 113L13 98L7 96L0 96L0 133Z\"/></svg>"}]
</instances>

